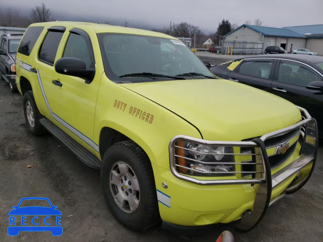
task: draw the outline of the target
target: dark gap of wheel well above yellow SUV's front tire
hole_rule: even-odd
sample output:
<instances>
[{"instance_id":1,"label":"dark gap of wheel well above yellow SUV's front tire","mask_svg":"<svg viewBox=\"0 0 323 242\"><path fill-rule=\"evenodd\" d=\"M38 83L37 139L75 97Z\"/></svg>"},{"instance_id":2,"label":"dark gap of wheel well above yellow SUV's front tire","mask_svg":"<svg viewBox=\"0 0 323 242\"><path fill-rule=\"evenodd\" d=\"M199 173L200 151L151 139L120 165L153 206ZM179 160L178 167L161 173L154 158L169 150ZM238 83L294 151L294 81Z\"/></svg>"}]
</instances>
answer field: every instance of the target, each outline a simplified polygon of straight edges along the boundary
<instances>
[{"instance_id":1,"label":"dark gap of wheel well above yellow SUV's front tire","mask_svg":"<svg viewBox=\"0 0 323 242\"><path fill-rule=\"evenodd\" d=\"M120 141L131 140L119 131L116 131L109 127L104 127L100 133L99 149L100 157L103 159L103 155L110 146Z\"/></svg>"}]
</instances>

